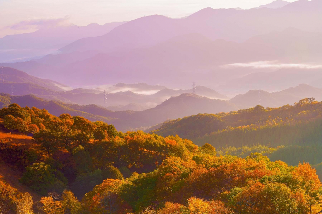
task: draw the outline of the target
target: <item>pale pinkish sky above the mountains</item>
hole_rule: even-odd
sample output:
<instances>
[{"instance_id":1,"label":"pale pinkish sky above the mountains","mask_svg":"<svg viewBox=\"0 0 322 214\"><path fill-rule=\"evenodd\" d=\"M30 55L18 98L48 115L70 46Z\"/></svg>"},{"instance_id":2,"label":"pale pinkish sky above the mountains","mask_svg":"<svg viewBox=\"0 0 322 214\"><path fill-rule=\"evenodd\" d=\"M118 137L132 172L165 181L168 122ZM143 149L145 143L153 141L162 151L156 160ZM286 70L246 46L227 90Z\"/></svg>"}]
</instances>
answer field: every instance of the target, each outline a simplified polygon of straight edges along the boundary
<instances>
[{"instance_id":1,"label":"pale pinkish sky above the mountains","mask_svg":"<svg viewBox=\"0 0 322 214\"><path fill-rule=\"evenodd\" d=\"M105 24L153 14L177 18L206 7L250 9L271 2L272 0L0 0L0 38L70 23L79 26Z\"/></svg>"}]
</instances>

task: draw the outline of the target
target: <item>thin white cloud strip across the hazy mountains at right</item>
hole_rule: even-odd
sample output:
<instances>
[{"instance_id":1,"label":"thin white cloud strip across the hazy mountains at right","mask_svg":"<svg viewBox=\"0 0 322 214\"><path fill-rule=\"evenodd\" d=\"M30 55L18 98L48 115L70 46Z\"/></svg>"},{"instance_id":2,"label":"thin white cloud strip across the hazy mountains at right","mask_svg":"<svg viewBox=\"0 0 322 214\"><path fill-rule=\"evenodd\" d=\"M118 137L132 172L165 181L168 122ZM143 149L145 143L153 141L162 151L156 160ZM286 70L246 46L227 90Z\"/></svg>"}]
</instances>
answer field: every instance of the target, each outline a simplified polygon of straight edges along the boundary
<instances>
[{"instance_id":1,"label":"thin white cloud strip across the hazy mountains at right","mask_svg":"<svg viewBox=\"0 0 322 214\"><path fill-rule=\"evenodd\" d=\"M277 61L258 61L249 63L233 63L223 65L223 68L234 68L234 67L249 67L249 68L303 68L303 69L317 69L322 68L322 65L310 65L310 64L296 64L296 63L278 63Z\"/></svg>"}]
</instances>

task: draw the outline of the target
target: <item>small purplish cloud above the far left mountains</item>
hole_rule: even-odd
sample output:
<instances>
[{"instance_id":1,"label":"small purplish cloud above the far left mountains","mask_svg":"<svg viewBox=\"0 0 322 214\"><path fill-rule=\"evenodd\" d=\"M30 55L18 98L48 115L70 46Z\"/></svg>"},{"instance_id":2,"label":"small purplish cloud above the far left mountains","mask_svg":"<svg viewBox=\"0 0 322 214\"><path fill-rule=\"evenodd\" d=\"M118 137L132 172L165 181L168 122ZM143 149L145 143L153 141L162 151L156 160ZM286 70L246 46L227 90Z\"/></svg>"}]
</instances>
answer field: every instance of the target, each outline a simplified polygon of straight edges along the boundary
<instances>
[{"instance_id":1,"label":"small purplish cloud above the far left mountains","mask_svg":"<svg viewBox=\"0 0 322 214\"><path fill-rule=\"evenodd\" d=\"M58 18L58 19L25 20L14 25L6 26L5 29L28 30L30 28L40 29L40 28L48 28L48 27L65 26L65 25L70 25L69 19L70 19L69 16L65 16L63 18Z\"/></svg>"}]
</instances>

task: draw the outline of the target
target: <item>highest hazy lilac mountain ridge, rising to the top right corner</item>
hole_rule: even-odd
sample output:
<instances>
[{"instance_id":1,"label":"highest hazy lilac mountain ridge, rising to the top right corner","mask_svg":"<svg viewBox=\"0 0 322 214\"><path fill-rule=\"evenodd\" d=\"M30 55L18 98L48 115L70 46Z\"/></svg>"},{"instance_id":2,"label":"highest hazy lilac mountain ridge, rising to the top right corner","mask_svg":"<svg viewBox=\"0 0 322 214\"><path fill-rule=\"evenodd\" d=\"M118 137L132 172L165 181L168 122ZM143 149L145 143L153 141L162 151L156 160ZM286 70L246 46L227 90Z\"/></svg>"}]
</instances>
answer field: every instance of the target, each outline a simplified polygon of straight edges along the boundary
<instances>
[{"instance_id":1,"label":"highest hazy lilac mountain ridge, rising to the top right corner","mask_svg":"<svg viewBox=\"0 0 322 214\"><path fill-rule=\"evenodd\" d=\"M321 12L319 0L300 0L274 10L205 8L183 19L152 15L127 22L103 36L75 41L60 50L64 53L86 50L119 52L151 47L189 33L200 33L211 40L245 41L255 35L288 27L321 31L321 27L318 27L321 26Z\"/></svg>"}]
</instances>

